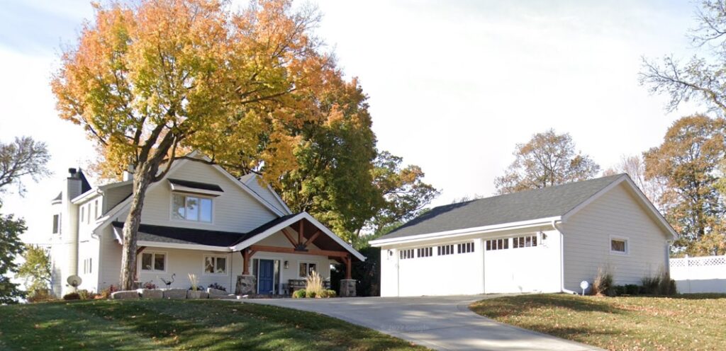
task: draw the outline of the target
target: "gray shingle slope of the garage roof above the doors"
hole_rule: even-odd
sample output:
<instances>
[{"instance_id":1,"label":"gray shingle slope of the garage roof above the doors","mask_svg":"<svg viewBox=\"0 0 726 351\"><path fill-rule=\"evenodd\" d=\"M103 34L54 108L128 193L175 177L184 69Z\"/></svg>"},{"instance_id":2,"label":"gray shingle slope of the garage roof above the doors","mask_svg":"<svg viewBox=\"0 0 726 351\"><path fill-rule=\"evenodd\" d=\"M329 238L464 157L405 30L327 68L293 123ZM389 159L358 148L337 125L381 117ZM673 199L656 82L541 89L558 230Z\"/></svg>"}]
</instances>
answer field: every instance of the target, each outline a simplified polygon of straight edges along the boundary
<instances>
[{"instance_id":1,"label":"gray shingle slope of the garage roof above the doors","mask_svg":"<svg viewBox=\"0 0 726 351\"><path fill-rule=\"evenodd\" d=\"M590 199L597 191L621 176L622 174L610 175L434 207L391 233L381 236L379 240L557 217Z\"/></svg>"}]
</instances>

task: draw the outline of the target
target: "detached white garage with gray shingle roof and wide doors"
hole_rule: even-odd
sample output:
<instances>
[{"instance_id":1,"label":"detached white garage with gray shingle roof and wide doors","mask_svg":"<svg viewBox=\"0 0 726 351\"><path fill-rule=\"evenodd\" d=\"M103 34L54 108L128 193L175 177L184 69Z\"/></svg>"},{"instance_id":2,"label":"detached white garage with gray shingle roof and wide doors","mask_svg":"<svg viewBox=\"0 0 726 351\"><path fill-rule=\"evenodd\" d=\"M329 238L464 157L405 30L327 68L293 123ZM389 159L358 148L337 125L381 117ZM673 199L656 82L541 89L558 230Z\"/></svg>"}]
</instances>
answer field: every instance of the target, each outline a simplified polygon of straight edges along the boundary
<instances>
[{"instance_id":1,"label":"detached white garage with gray shingle roof and wide doors","mask_svg":"<svg viewBox=\"0 0 726 351\"><path fill-rule=\"evenodd\" d=\"M669 269L677 234L628 175L435 207L371 241L381 296L581 292Z\"/></svg>"}]
</instances>

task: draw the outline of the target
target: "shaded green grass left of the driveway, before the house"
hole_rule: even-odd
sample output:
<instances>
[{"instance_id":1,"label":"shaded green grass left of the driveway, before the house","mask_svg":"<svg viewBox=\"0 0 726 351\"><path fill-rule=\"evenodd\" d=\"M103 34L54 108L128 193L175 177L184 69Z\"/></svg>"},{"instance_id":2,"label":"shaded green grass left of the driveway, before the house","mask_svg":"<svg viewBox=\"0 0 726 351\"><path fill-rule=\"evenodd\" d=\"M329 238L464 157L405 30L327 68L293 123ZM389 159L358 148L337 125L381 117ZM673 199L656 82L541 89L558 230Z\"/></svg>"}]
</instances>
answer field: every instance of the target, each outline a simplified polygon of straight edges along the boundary
<instances>
[{"instance_id":1,"label":"shaded green grass left of the driveway, before the house","mask_svg":"<svg viewBox=\"0 0 726 351\"><path fill-rule=\"evenodd\" d=\"M416 348L393 336L317 313L220 300L92 300L0 306L0 350Z\"/></svg>"}]
</instances>

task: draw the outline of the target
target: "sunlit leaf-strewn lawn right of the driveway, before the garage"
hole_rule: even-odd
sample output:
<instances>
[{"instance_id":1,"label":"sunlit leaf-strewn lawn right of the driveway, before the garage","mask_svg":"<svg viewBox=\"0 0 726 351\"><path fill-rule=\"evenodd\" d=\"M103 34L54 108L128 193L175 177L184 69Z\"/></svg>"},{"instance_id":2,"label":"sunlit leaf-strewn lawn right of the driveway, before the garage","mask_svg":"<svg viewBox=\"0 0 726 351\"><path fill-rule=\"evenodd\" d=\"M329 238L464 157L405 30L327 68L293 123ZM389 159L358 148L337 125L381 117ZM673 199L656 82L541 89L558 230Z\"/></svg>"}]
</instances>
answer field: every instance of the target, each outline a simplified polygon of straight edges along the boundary
<instances>
[{"instance_id":1,"label":"sunlit leaf-strewn lawn right of the driveway, before the garage","mask_svg":"<svg viewBox=\"0 0 726 351\"><path fill-rule=\"evenodd\" d=\"M531 294L483 300L470 308L503 323L608 350L724 350L726 345L726 294Z\"/></svg>"}]
</instances>

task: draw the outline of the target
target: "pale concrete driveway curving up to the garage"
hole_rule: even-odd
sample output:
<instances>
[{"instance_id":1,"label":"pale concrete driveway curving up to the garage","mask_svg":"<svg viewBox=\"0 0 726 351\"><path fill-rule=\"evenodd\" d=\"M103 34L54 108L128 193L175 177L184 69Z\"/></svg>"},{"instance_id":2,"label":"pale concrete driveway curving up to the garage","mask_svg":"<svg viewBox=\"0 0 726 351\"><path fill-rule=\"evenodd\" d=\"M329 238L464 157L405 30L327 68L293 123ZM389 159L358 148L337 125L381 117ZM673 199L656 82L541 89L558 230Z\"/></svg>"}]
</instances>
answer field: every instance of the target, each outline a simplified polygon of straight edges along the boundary
<instances>
[{"instance_id":1,"label":"pale concrete driveway curving up to the garage","mask_svg":"<svg viewBox=\"0 0 726 351\"><path fill-rule=\"evenodd\" d=\"M469 310L497 295L252 299L245 303L306 310L406 339L436 350L600 350L492 321Z\"/></svg>"}]
</instances>

